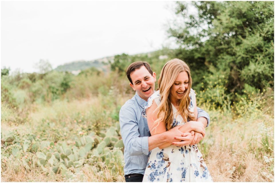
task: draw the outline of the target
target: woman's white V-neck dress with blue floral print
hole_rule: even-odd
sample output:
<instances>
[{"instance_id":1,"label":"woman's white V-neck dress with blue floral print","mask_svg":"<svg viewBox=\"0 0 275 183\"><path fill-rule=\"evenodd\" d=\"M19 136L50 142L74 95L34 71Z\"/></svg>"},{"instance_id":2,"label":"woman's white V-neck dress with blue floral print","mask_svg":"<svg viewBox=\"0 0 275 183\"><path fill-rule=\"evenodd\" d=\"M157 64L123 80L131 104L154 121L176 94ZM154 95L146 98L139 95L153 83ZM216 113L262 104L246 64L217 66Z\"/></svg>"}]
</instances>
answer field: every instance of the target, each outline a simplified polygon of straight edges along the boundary
<instances>
[{"instance_id":1,"label":"woman's white V-neck dress with blue floral print","mask_svg":"<svg viewBox=\"0 0 275 183\"><path fill-rule=\"evenodd\" d=\"M191 89L189 110L194 111L195 91ZM150 107L153 100L160 104L160 93L156 91L147 101L142 112ZM172 127L184 125L185 122L176 108L172 105L174 121ZM144 173L143 182L213 182L203 160L203 155L197 145L178 147L170 145L164 149L158 147L149 152L148 164Z\"/></svg>"}]
</instances>

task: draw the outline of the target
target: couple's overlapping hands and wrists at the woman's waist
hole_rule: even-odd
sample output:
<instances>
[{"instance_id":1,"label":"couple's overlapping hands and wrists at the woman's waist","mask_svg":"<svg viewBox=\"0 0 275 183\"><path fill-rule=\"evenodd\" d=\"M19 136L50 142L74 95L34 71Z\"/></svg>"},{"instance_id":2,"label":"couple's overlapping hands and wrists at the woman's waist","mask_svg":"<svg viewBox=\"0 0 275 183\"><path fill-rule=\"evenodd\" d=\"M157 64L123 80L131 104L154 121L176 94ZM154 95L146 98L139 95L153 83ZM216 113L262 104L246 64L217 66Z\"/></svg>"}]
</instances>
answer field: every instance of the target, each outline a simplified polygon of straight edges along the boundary
<instances>
[{"instance_id":1,"label":"couple's overlapping hands and wrists at the woman's waist","mask_svg":"<svg viewBox=\"0 0 275 183\"><path fill-rule=\"evenodd\" d=\"M185 146L198 144L205 136L205 127L198 121L189 121L170 130L174 134L173 145Z\"/></svg>"}]
</instances>

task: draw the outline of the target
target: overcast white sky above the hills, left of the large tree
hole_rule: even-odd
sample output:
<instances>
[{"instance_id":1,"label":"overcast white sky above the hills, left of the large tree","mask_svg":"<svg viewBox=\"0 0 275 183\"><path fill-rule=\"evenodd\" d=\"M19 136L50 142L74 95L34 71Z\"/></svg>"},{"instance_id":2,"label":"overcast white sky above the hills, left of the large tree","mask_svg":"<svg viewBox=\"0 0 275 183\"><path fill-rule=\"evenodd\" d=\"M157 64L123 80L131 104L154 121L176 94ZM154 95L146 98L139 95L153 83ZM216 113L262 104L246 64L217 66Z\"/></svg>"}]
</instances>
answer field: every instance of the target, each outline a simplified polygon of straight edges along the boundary
<instances>
[{"instance_id":1,"label":"overcast white sky above the hills, left of the large tree","mask_svg":"<svg viewBox=\"0 0 275 183\"><path fill-rule=\"evenodd\" d=\"M1 1L1 68L35 72L35 63L53 68L158 50L173 1Z\"/></svg>"}]
</instances>

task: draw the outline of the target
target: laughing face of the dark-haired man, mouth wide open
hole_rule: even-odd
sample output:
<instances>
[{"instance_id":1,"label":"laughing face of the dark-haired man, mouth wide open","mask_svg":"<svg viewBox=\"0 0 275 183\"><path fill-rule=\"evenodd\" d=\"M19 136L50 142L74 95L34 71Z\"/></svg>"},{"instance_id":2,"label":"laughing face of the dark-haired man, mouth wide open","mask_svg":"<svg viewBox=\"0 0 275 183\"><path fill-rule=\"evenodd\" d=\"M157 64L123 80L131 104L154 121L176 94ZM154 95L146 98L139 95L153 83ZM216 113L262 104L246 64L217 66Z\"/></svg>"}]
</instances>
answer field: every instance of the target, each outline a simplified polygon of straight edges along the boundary
<instances>
[{"instance_id":1,"label":"laughing face of the dark-haired man, mouth wide open","mask_svg":"<svg viewBox=\"0 0 275 183\"><path fill-rule=\"evenodd\" d=\"M145 66L136 69L130 74L133 84L130 86L133 88L137 94L145 101L154 93L156 73L153 72L153 76L146 69Z\"/></svg>"}]
</instances>

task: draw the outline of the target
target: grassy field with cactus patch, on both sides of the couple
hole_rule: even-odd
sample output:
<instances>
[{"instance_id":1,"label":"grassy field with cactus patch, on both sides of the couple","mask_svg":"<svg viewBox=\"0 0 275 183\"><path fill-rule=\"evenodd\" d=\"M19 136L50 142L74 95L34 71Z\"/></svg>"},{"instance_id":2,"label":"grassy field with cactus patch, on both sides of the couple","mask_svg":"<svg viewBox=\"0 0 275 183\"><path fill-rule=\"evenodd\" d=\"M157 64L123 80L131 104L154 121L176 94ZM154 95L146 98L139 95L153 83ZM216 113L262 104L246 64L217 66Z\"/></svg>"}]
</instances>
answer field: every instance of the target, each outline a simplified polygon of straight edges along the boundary
<instances>
[{"instance_id":1,"label":"grassy field with cactus patch, on both sides of the couple","mask_svg":"<svg viewBox=\"0 0 275 183\"><path fill-rule=\"evenodd\" d=\"M1 181L124 182L118 113L129 98L111 91L25 110L1 103ZM213 180L274 182L273 95L232 105L200 106L211 118L199 149Z\"/></svg>"}]
</instances>

